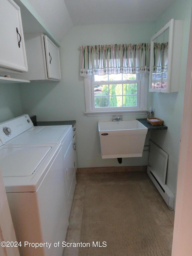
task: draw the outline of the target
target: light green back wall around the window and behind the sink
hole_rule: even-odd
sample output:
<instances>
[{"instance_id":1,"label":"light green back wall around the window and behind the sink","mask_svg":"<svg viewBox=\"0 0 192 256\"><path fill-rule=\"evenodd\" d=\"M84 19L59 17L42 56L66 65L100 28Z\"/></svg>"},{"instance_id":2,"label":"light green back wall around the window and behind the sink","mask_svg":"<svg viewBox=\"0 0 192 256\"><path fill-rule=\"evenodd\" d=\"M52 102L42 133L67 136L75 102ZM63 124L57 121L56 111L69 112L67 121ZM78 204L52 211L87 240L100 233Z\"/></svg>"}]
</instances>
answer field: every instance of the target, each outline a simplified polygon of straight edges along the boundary
<instances>
[{"instance_id":1,"label":"light green back wall around the window and behind the sink","mask_svg":"<svg viewBox=\"0 0 192 256\"><path fill-rule=\"evenodd\" d=\"M37 115L38 120L76 120L78 167L119 165L116 158L101 158L98 119L112 119L112 115L88 117L84 114L84 79L79 76L79 46L150 42L153 31L154 23L74 26L60 47L61 82L21 87L24 112ZM124 158L121 165L147 164L148 152L144 152L142 158Z\"/></svg>"}]
</instances>

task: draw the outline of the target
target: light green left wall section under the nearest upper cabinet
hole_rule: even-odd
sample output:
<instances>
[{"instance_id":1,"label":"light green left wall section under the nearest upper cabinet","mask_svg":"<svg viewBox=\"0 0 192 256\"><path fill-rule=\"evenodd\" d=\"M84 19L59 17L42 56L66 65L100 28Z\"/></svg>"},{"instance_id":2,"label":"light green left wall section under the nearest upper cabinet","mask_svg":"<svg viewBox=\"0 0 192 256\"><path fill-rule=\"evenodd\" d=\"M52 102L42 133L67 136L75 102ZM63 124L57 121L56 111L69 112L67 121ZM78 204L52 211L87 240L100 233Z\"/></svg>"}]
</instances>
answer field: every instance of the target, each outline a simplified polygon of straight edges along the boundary
<instances>
[{"instance_id":1,"label":"light green left wall section under the nearest upper cabinet","mask_svg":"<svg viewBox=\"0 0 192 256\"><path fill-rule=\"evenodd\" d=\"M0 122L22 114L19 85L0 83Z\"/></svg>"}]
</instances>

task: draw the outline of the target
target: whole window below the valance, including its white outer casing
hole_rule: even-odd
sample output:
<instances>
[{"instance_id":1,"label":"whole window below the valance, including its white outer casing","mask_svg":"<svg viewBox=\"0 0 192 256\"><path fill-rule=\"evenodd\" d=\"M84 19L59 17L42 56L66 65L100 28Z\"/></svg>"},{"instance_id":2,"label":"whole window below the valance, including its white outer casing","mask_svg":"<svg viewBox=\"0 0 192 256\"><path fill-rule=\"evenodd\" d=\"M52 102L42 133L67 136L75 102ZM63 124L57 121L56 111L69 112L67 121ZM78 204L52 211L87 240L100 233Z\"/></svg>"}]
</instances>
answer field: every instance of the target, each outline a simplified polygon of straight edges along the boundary
<instances>
[{"instance_id":1,"label":"whole window below the valance, including its white outer casing","mask_svg":"<svg viewBox=\"0 0 192 256\"><path fill-rule=\"evenodd\" d=\"M87 115L146 112L148 74L93 75L84 84Z\"/></svg>"}]
</instances>

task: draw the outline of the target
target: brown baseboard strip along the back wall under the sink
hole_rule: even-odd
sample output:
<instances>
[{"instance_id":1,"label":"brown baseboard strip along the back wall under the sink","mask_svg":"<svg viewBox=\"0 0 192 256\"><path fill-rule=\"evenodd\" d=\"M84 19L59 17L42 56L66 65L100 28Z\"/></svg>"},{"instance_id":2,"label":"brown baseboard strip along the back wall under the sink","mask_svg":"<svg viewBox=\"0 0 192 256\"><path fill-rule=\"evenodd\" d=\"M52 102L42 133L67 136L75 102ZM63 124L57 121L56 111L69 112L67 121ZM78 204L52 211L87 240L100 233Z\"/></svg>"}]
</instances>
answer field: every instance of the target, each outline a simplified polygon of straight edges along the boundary
<instances>
[{"instance_id":1,"label":"brown baseboard strip along the back wall under the sink","mask_svg":"<svg viewBox=\"0 0 192 256\"><path fill-rule=\"evenodd\" d=\"M76 173L147 172L147 166L113 166L77 168Z\"/></svg>"}]
</instances>

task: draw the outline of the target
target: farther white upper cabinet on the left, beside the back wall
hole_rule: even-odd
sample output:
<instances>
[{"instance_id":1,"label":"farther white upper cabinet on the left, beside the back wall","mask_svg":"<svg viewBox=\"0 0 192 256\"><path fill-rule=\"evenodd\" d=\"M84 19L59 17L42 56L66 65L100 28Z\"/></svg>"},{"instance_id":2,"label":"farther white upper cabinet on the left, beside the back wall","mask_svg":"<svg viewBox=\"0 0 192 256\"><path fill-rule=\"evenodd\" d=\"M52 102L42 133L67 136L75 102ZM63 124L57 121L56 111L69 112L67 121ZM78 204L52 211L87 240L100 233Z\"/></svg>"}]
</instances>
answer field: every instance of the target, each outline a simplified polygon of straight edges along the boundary
<instances>
[{"instance_id":1,"label":"farther white upper cabinet on the left, beside the back wall","mask_svg":"<svg viewBox=\"0 0 192 256\"><path fill-rule=\"evenodd\" d=\"M43 33L24 34L29 71L14 76L30 81L59 81L61 68L58 47Z\"/></svg>"}]
</instances>

